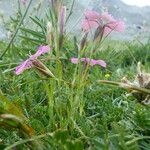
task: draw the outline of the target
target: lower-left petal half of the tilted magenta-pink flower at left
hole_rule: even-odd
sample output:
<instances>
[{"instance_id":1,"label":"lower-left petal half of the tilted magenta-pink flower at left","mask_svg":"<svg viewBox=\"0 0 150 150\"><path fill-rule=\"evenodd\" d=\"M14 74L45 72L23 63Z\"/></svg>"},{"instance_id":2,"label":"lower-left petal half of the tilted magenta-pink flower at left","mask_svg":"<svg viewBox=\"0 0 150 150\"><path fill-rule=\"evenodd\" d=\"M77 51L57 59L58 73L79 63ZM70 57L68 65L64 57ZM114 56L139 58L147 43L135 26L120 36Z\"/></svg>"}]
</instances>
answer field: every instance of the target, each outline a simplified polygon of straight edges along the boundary
<instances>
[{"instance_id":1,"label":"lower-left petal half of the tilted magenta-pink flower at left","mask_svg":"<svg viewBox=\"0 0 150 150\"><path fill-rule=\"evenodd\" d=\"M16 67L15 73L17 75L21 74L23 71L33 67L32 61L30 59L27 59L22 64Z\"/></svg>"}]
</instances>

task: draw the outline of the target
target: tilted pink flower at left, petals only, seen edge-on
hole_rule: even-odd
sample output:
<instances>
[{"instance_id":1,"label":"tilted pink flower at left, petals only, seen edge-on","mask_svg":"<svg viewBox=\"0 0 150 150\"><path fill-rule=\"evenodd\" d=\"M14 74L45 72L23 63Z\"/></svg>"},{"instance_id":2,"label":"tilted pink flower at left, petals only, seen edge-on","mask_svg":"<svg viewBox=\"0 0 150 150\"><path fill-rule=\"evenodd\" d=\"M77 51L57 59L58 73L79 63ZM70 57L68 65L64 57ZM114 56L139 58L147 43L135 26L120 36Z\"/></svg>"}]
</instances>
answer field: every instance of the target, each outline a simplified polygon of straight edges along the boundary
<instances>
[{"instance_id":1,"label":"tilted pink flower at left, petals only, seen edge-on","mask_svg":"<svg viewBox=\"0 0 150 150\"><path fill-rule=\"evenodd\" d=\"M49 51L50 47L48 45L40 46L34 55L31 55L26 61L24 61L23 63L21 63L19 66L16 67L15 73L19 75L23 71L32 68L34 66L33 61L36 60L42 54L48 53Z\"/></svg>"}]
</instances>

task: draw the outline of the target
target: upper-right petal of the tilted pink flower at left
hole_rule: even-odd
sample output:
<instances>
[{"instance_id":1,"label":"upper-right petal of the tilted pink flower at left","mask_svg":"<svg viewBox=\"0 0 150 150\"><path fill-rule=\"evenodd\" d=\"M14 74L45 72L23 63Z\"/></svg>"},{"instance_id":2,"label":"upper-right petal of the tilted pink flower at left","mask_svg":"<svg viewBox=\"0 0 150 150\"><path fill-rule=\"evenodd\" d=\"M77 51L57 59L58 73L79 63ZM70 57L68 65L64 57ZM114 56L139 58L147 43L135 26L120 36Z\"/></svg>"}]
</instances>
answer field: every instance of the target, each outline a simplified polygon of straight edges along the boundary
<instances>
[{"instance_id":1,"label":"upper-right petal of the tilted pink flower at left","mask_svg":"<svg viewBox=\"0 0 150 150\"><path fill-rule=\"evenodd\" d=\"M40 46L37 50L37 52L34 54L34 55L31 55L31 59L36 59L38 58L39 56L41 56L42 54L45 54L45 53L48 53L50 51L50 47L48 45L46 46Z\"/></svg>"}]
</instances>

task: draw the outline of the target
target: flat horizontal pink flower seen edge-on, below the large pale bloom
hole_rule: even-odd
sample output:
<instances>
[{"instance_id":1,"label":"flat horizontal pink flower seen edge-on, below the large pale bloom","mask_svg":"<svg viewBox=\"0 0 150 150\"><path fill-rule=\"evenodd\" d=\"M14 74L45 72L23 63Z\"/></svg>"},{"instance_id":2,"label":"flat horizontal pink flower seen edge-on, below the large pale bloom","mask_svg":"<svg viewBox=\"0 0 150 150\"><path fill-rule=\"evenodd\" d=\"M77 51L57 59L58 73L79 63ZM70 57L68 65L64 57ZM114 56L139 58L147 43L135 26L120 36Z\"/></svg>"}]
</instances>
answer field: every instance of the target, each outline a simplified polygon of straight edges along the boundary
<instances>
[{"instance_id":1,"label":"flat horizontal pink flower seen edge-on, below the large pale bloom","mask_svg":"<svg viewBox=\"0 0 150 150\"><path fill-rule=\"evenodd\" d=\"M95 60L95 59L90 59L90 58L81 58L80 59L81 62L84 62L86 64L89 64L90 66L95 66L95 65L99 65L101 67L106 68L107 64L104 60ZM71 58L71 62L73 64L78 64L79 60L78 58Z\"/></svg>"}]
</instances>

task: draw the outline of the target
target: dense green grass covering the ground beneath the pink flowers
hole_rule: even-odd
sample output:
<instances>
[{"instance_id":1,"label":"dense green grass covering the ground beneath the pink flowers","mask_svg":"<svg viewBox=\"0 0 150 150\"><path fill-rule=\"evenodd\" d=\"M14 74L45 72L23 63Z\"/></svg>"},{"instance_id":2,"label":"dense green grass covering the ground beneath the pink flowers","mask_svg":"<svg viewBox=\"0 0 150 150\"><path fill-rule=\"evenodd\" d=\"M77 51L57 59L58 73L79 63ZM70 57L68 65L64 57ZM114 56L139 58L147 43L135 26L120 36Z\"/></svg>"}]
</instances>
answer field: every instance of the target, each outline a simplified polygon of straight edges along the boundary
<instances>
[{"instance_id":1,"label":"dense green grass covering the ground beneath the pink flowers","mask_svg":"<svg viewBox=\"0 0 150 150\"><path fill-rule=\"evenodd\" d=\"M149 63L144 58L149 55L141 55L140 52L148 53L149 44L144 48L132 44L128 46L132 47L131 53L136 61L143 61L147 68ZM3 49L5 43L1 42L1 47ZM86 86L84 90L81 87L83 91L78 94L76 88L72 91L65 83L58 88L55 80L40 78L34 70L16 76L11 70L16 65L11 65L10 56L6 56L1 63L0 86L8 104L1 102L1 113L20 117L21 114L17 112L20 109L25 116L23 124L30 126L34 134L22 135L20 127L4 126L0 129L1 147L16 144L18 149L148 150L149 107L139 104L132 96L126 97L126 91L122 89L96 82L106 79L107 73L111 75L111 80L120 80L124 75L133 79L136 64L131 61L132 56L127 55L128 51L127 48L120 51L120 56L114 53L113 47L108 47L102 53L97 53L97 57L104 59L107 54L108 69L103 70L98 66L91 68ZM63 63L66 66L63 68L63 78L71 82L74 65L69 61ZM79 95L73 105L76 107L80 103L82 113L70 106L71 92L74 96ZM40 138L41 135L45 136Z\"/></svg>"}]
</instances>

